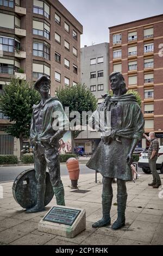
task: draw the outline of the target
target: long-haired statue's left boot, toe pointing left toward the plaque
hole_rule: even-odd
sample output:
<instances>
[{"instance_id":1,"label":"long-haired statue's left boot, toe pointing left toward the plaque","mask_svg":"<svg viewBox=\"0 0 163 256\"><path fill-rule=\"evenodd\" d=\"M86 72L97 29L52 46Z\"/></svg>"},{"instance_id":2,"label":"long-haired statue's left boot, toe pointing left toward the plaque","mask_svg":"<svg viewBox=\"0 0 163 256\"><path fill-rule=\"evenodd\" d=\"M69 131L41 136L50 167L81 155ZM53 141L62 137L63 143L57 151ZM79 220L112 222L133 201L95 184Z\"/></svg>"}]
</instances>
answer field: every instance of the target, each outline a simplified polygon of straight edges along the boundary
<instances>
[{"instance_id":1,"label":"long-haired statue's left boot, toe pointing left toward the plaque","mask_svg":"<svg viewBox=\"0 0 163 256\"><path fill-rule=\"evenodd\" d=\"M101 228L106 225L110 225L110 209L112 203L112 194L102 194L102 208L103 208L103 217L101 220L92 224L92 228Z\"/></svg>"}]
</instances>

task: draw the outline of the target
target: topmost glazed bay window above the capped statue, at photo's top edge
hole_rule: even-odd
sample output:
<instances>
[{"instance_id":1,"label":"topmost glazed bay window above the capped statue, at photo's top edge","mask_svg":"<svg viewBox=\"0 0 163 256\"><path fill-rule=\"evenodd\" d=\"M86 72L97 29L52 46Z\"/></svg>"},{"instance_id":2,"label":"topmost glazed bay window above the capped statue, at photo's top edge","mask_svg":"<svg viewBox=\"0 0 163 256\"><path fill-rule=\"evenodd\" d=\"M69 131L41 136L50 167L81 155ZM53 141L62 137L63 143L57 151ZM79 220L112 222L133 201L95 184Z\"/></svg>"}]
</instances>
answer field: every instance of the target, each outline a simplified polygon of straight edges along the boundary
<instances>
[{"instance_id":1,"label":"topmost glazed bay window above the capped statue, at photo's top edge","mask_svg":"<svg viewBox=\"0 0 163 256\"><path fill-rule=\"evenodd\" d=\"M50 7L43 1L34 0L33 2L33 13L44 15L49 19Z\"/></svg>"}]
</instances>

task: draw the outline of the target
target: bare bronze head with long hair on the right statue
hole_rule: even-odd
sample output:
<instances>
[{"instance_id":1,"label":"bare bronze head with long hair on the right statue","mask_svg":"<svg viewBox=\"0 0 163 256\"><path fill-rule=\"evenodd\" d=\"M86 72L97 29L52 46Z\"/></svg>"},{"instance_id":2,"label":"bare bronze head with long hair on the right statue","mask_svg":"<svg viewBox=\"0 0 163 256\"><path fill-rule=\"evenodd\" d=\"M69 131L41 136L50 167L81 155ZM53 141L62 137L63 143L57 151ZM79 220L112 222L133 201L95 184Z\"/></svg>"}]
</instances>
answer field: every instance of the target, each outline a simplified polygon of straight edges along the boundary
<instances>
[{"instance_id":1,"label":"bare bronze head with long hair on the right statue","mask_svg":"<svg viewBox=\"0 0 163 256\"><path fill-rule=\"evenodd\" d=\"M120 72L112 72L109 76L109 79L112 92L120 90L121 95L127 93L126 83L124 82L124 77Z\"/></svg>"}]
</instances>

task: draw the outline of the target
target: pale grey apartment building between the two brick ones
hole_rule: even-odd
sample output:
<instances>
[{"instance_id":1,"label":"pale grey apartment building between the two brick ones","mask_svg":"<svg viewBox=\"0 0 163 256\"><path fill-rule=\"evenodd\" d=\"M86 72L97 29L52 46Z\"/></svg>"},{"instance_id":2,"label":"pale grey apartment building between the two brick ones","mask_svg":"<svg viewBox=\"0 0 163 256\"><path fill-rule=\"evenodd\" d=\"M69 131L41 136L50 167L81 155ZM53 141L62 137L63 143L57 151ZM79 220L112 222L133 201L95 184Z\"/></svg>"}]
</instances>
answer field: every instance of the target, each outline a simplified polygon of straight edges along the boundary
<instances>
[{"instance_id":1,"label":"pale grey apartment building between the two brick ones","mask_svg":"<svg viewBox=\"0 0 163 256\"><path fill-rule=\"evenodd\" d=\"M81 83L86 86L98 99L103 101L102 95L109 90L109 44L86 46L81 48ZM90 154L101 139L101 133L96 131L83 131L75 139L75 147L84 149Z\"/></svg>"}]
</instances>

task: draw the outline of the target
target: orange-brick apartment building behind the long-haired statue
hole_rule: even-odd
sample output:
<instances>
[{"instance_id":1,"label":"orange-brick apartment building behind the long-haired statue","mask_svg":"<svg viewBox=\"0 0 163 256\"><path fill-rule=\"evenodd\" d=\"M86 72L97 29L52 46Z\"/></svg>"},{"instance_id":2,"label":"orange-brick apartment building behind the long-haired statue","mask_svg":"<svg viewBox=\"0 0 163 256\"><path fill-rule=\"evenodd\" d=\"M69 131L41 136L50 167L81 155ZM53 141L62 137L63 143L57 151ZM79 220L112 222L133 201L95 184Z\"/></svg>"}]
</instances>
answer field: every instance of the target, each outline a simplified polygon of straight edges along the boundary
<instances>
[{"instance_id":1,"label":"orange-brick apartment building behind the long-haired statue","mask_svg":"<svg viewBox=\"0 0 163 256\"><path fill-rule=\"evenodd\" d=\"M145 132L163 145L163 15L109 27L110 73L122 72L128 89L141 95ZM143 138L139 145L146 147Z\"/></svg>"}]
</instances>

